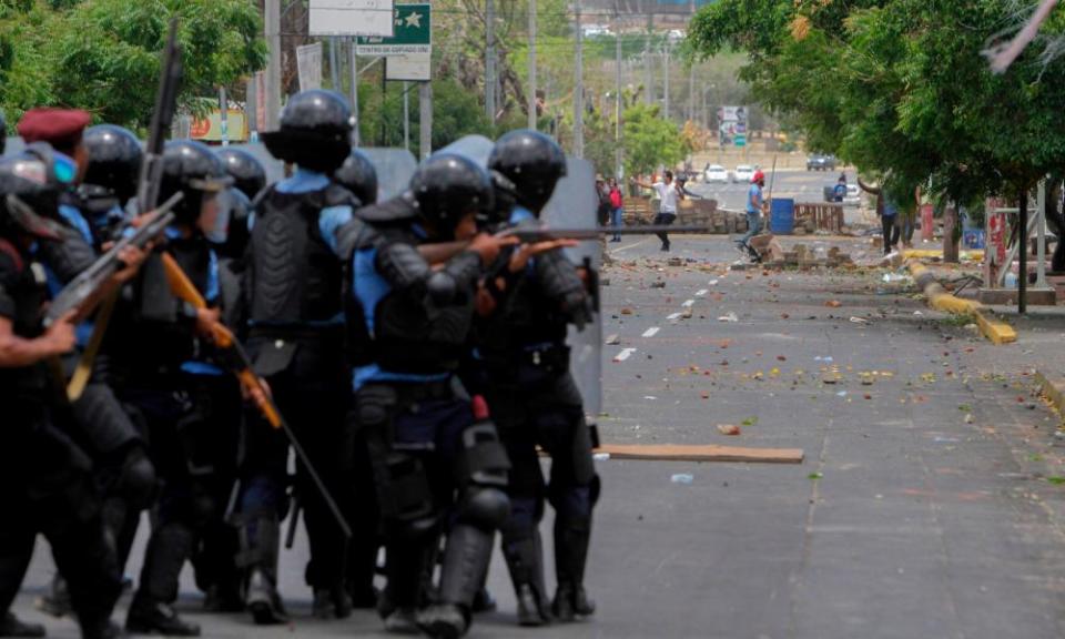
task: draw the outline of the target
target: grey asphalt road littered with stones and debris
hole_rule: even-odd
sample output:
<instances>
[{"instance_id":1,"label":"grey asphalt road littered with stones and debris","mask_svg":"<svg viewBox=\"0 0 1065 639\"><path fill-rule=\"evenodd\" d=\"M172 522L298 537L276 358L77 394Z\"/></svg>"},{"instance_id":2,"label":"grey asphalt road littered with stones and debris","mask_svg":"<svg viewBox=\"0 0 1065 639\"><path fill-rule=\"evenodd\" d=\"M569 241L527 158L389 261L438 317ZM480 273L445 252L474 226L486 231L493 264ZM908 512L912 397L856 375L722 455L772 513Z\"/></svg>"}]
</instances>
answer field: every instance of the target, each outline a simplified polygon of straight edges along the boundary
<instances>
[{"instance_id":1,"label":"grey asphalt road littered with stones and debris","mask_svg":"<svg viewBox=\"0 0 1065 639\"><path fill-rule=\"evenodd\" d=\"M604 333L620 344L605 352L604 438L800 447L807 460L600 462L588 577L600 613L514 628L497 558L500 612L471 637L1065 636L1065 487L1047 480L1065 475L1057 417L1028 396L1024 344L992 347L881 273L730 273L723 237L678 236L680 266L653 239L608 246ZM673 481L683 474L690 484ZM37 619L40 555L19 602ZM197 615L205 635L378 636L366 612L306 618L304 560L302 545L285 555L292 628ZM74 636L64 622L50 632Z\"/></svg>"}]
</instances>

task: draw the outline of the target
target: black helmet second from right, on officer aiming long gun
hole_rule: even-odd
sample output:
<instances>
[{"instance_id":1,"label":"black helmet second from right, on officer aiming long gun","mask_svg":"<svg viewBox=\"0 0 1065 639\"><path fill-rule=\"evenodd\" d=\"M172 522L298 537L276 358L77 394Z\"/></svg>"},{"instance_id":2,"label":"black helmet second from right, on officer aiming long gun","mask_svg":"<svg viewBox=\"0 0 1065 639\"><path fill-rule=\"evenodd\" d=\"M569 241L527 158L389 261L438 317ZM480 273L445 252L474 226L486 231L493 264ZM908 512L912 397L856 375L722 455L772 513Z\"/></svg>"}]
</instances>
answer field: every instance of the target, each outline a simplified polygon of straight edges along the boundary
<instances>
[{"instance_id":1,"label":"black helmet second from right, on officer aiming long gun","mask_svg":"<svg viewBox=\"0 0 1065 639\"><path fill-rule=\"evenodd\" d=\"M423 162L410 178L410 193L439 236L452 235L463 217L483 215L495 204L488 172L454 153L437 153Z\"/></svg>"}]
</instances>

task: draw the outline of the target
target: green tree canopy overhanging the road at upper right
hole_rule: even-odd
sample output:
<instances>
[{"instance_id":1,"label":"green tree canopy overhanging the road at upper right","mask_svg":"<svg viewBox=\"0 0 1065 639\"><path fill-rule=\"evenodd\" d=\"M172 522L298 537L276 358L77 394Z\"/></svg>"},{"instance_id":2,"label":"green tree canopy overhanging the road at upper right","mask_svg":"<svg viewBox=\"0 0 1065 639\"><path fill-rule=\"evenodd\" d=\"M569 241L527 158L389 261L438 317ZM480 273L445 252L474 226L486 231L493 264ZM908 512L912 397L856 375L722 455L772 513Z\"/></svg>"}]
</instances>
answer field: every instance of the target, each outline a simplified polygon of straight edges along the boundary
<instances>
[{"instance_id":1,"label":"green tree canopy overhanging the road at upper right","mask_svg":"<svg viewBox=\"0 0 1065 639\"><path fill-rule=\"evenodd\" d=\"M1044 33L1062 33L1062 13ZM1021 19L1013 0L720 0L690 42L746 51L763 104L901 202L929 183L970 203L1065 163L1065 61L1033 44L996 75L982 55Z\"/></svg>"}]
</instances>

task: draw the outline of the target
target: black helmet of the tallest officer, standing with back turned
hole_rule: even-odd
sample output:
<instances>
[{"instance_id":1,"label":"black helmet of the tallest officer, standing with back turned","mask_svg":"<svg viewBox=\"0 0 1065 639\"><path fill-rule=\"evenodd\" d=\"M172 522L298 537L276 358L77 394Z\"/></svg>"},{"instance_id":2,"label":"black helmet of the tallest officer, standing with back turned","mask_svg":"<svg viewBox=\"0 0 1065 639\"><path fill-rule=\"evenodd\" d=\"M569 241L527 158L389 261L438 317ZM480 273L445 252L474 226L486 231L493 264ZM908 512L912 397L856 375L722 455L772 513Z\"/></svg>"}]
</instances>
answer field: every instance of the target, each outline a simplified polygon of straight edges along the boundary
<instances>
[{"instance_id":1,"label":"black helmet of the tallest officer, standing with back turned","mask_svg":"<svg viewBox=\"0 0 1065 639\"><path fill-rule=\"evenodd\" d=\"M281 111L281 129L261 138L274 158L332 173L352 150L354 128L352 108L343 95L313 89L293 95Z\"/></svg>"}]
</instances>

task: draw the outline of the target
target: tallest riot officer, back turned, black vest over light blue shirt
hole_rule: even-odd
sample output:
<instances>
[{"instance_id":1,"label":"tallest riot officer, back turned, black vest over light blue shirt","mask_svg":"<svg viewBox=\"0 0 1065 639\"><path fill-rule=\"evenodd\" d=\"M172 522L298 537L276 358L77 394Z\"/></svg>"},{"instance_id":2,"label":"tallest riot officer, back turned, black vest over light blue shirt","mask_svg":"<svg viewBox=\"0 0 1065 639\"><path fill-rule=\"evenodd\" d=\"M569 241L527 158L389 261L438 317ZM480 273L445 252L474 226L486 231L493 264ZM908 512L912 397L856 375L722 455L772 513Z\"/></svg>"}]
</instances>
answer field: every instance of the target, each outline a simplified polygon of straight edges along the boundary
<instances>
[{"instance_id":1,"label":"tallest riot officer, back turned, black vest over light blue shirt","mask_svg":"<svg viewBox=\"0 0 1065 639\"><path fill-rule=\"evenodd\" d=\"M346 384L341 300L343 262L359 203L331 179L351 152L354 120L332 91L294 95L281 129L262 134L270 152L297 166L295 174L255 199L244 272L248 354L270 384L281 412L331 493L346 464L342 432ZM287 619L276 591L280 520L284 516L287 440L257 418L246 428L241 471L241 561L248 569L246 604L257 623ZM344 588L346 539L304 468L296 494L303 506L314 589L314 613L343 618L352 604ZM342 500L342 505L346 500ZM348 520L352 517L347 517Z\"/></svg>"}]
</instances>

